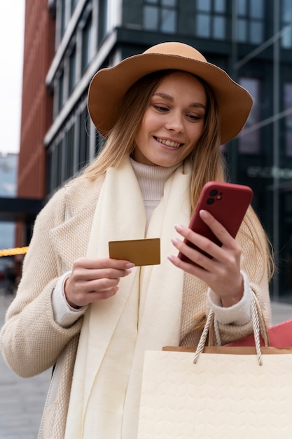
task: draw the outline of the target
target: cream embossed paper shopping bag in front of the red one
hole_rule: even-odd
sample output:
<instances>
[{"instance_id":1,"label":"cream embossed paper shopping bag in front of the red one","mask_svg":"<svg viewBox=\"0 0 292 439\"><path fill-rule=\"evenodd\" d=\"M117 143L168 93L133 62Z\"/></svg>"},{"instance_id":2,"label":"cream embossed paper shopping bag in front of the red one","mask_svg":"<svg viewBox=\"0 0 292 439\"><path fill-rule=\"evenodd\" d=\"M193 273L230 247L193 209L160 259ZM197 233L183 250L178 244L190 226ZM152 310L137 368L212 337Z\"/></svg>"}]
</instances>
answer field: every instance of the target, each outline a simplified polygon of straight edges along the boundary
<instances>
[{"instance_id":1,"label":"cream embossed paper shopping bag in front of the red one","mask_svg":"<svg viewBox=\"0 0 292 439\"><path fill-rule=\"evenodd\" d=\"M292 438L291 353L146 351L137 438Z\"/></svg>"}]
</instances>

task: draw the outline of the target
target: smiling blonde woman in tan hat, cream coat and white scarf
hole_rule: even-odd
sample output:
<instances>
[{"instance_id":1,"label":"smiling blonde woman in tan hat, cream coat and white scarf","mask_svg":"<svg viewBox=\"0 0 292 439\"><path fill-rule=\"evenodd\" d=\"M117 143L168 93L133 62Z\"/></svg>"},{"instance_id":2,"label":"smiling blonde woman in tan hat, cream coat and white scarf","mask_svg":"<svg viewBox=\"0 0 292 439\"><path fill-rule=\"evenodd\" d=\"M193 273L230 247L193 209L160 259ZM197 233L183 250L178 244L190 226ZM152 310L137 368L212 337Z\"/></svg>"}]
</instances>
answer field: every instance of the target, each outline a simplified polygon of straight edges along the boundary
<instances>
[{"instance_id":1,"label":"smiling blonde woman in tan hat, cream coat and white scarf","mask_svg":"<svg viewBox=\"0 0 292 439\"><path fill-rule=\"evenodd\" d=\"M270 323L269 248L253 210L237 240L201 212L221 248L188 228L203 185L225 180L219 145L251 106L244 88L183 43L92 79L88 109L106 145L36 219L1 330L16 373L55 365L39 438L134 439L146 349L197 344L210 307L222 343L249 335L250 289ZM109 241L157 237L158 265L109 258Z\"/></svg>"}]
</instances>

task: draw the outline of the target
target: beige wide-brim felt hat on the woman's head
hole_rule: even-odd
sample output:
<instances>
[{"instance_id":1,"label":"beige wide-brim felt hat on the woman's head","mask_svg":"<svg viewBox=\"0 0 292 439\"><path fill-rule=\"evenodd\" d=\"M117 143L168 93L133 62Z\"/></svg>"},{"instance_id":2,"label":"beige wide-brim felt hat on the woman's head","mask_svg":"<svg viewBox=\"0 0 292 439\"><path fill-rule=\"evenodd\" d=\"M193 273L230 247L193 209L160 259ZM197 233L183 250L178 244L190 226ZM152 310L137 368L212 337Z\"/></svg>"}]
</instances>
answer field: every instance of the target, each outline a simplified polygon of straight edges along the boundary
<instances>
[{"instance_id":1,"label":"beige wide-brim felt hat on the woman's head","mask_svg":"<svg viewBox=\"0 0 292 439\"><path fill-rule=\"evenodd\" d=\"M120 102L142 76L165 69L193 73L214 92L221 116L221 144L235 137L246 123L253 99L224 70L207 62L195 48L184 43L160 43L93 76L88 90L88 111L104 137L116 122Z\"/></svg>"}]
</instances>

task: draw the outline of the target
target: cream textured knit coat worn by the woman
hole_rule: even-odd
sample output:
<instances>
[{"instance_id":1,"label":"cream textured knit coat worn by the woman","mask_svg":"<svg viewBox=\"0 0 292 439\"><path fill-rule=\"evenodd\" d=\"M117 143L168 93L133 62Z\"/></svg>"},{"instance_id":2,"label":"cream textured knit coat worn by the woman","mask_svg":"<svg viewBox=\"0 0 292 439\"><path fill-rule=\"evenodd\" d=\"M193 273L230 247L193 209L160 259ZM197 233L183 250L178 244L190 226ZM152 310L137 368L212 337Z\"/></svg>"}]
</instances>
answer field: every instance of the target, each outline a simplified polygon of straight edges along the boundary
<instances>
[{"instance_id":1,"label":"cream textured knit coat worn by the woman","mask_svg":"<svg viewBox=\"0 0 292 439\"><path fill-rule=\"evenodd\" d=\"M88 248L92 217L103 179L76 180L60 189L36 219L34 235L25 257L24 275L18 293L8 309L1 329L1 351L8 365L21 377L32 377L56 365L44 410L39 438L63 439L71 389L71 378L83 318L69 328L57 325L51 293L60 275L71 269L75 259ZM69 219L65 219L65 210ZM267 276L255 269L251 242L241 235L242 269L258 295L267 323L270 302ZM197 344L201 330L192 331L195 315L207 311L207 285L185 275L181 316L181 344ZM194 294L195 292L195 294ZM251 323L243 326L219 325L223 343L251 333Z\"/></svg>"}]
</instances>

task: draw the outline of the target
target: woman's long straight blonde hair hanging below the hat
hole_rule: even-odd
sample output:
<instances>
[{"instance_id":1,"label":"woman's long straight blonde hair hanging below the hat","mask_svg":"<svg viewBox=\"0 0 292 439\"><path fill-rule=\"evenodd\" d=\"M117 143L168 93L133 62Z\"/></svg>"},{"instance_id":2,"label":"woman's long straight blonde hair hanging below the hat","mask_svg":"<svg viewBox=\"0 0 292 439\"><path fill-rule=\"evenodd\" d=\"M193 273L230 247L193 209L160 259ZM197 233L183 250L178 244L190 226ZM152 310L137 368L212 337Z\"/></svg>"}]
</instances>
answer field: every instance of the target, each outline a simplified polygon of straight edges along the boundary
<instances>
[{"instance_id":1,"label":"woman's long straight blonde hair hanging below the hat","mask_svg":"<svg viewBox=\"0 0 292 439\"><path fill-rule=\"evenodd\" d=\"M134 151L134 137L151 97L162 79L172 72L175 72L175 70L153 72L134 83L125 94L120 108L117 109L116 123L108 133L104 148L95 158L95 161L85 168L79 178L95 180L97 177L104 175L110 166L118 166L125 154L130 155ZM190 182L190 205L192 210L195 209L197 199L205 183L209 181L227 181L225 159L219 148L220 115L218 114L216 100L208 84L200 77L195 77L202 83L207 94L207 112L202 135L188 157L193 168ZM256 212L251 207L246 212L244 226L244 231L241 230L240 233L252 241L255 260L263 266L263 274L265 272L265 262L267 262L268 274L271 278L274 271L274 261L270 251L270 243L265 236ZM258 259L258 252L264 263Z\"/></svg>"}]
</instances>

